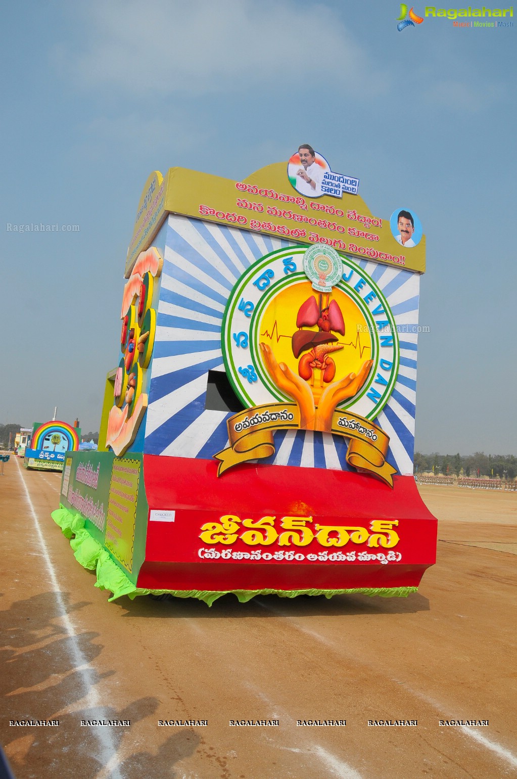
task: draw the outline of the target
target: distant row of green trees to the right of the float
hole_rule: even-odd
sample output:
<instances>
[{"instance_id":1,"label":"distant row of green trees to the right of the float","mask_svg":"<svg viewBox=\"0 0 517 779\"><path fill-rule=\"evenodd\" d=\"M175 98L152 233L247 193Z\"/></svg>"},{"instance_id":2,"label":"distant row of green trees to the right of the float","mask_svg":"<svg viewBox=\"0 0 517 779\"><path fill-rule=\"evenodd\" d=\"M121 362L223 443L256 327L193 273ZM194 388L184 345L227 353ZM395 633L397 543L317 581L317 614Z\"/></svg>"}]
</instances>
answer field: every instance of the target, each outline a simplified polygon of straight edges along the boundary
<instances>
[{"instance_id":1,"label":"distant row of green trees to the right of the float","mask_svg":"<svg viewBox=\"0 0 517 779\"><path fill-rule=\"evenodd\" d=\"M433 471L436 476L479 476L484 478L515 479L517 457L512 454L422 454L415 452L415 473Z\"/></svg>"}]
</instances>

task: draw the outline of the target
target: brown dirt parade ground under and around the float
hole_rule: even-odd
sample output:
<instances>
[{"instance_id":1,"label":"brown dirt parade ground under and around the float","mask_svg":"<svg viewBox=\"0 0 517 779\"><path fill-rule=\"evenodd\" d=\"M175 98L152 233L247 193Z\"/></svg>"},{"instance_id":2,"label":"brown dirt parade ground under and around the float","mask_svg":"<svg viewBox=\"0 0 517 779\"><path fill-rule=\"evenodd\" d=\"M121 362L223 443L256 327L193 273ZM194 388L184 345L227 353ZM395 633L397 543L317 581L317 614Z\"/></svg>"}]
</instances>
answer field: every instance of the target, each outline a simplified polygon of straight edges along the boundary
<instances>
[{"instance_id":1,"label":"brown dirt parade ground under and around the float","mask_svg":"<svg viewBox=\"0 0 517 779\"><path fill-rule=\"evenodd\" d=\"M16 779L517 775L517 493L421 487L438 562L410 597L208 608L108 603L51 520L60 480L15 456L0 476L0 730Z\"/></svg>"}]
</instances>

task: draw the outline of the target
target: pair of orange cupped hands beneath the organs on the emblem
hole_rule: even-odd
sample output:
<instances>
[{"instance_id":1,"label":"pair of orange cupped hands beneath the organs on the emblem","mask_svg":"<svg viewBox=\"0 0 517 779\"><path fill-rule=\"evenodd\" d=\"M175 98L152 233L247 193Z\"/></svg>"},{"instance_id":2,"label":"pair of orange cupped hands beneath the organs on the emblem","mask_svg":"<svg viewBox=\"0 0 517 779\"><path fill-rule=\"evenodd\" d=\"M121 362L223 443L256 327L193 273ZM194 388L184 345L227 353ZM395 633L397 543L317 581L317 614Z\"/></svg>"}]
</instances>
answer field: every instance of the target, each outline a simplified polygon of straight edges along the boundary
<instances>
[{"instance_id":1,"label":"pair of orange cupped hands beneath the organs on the emblem","mask_svg":"<svg viewBox=\"0 0 517 779\"><path fill-rule=\"evenodd\" d=\"M373 360L365 360L360 371L349 373L343 379L332 382L323 390L318 406L312 394L311 385L294 373L285 362L277 362L268 344L260 344L262 358L269 375L284 393L292 397L300 410L300 427L305 430L330 432L332 414L346 398L356 395L370 372Z\"/></svg>"}]
</instances>

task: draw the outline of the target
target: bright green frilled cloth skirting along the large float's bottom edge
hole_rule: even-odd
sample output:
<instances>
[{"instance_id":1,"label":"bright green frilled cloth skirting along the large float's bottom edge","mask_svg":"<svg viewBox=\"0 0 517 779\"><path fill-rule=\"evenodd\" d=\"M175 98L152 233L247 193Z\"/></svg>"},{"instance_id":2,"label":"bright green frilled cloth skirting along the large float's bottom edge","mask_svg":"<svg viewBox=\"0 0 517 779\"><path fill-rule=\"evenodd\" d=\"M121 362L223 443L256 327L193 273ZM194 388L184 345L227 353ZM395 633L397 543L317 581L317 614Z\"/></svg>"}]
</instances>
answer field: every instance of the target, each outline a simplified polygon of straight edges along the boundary
<instances>
[{"instance_id":1,"label":"bright green frilled cloth skirting along the large float's bottom edge","mask_svg":"<svg viewBox=\"0 0 517 779\"><path fill-rule=\"evenodd\" d=\"M128 579L125 573L113 562L109 553L98 541L90 535L84 527L83 517L73 513L65 506L52 512L52 519L62 529L65 538L70 539L70 546L74 551L77 562L83 568L94 570L97 573L95 587L100 590L110 590L113 595L109 598L114 601L121 595L127 595L131 599L137 595L164 595L174 597L196 597L199 601L205 601L211 606L218 597L232 592L237 595L241 603L251 601L255 595L278 595L279 597L297 597L297 595L379 595L380 597L407 597L412 592L417 592L417 587L358 587L353 590L224 590L223 592L209 590L144 590Z\"/></svg>"}]
</instances>

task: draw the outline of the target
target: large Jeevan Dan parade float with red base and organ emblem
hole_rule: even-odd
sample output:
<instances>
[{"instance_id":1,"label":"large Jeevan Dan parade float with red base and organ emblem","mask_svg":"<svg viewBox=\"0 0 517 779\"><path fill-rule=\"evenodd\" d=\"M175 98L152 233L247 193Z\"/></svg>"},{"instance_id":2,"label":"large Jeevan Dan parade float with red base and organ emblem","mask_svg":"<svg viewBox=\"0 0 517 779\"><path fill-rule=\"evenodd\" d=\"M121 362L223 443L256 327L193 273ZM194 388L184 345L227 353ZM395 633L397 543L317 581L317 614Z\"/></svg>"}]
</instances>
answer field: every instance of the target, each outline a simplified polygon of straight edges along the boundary
<instances>
[{"instance_id":1,"label":"large Jeevan Dan parade float with red base and organ emblem","mask_svg":"<svg viewBox=\"0 0 517 779\"><path fill-rule=\"evenodd\" d=\"M358 185L310 146L242 182L149 176L98 449L66 453L52 515L113 597L405 596L434 563L425 238Z\"/></svg>"}]
</instances>

